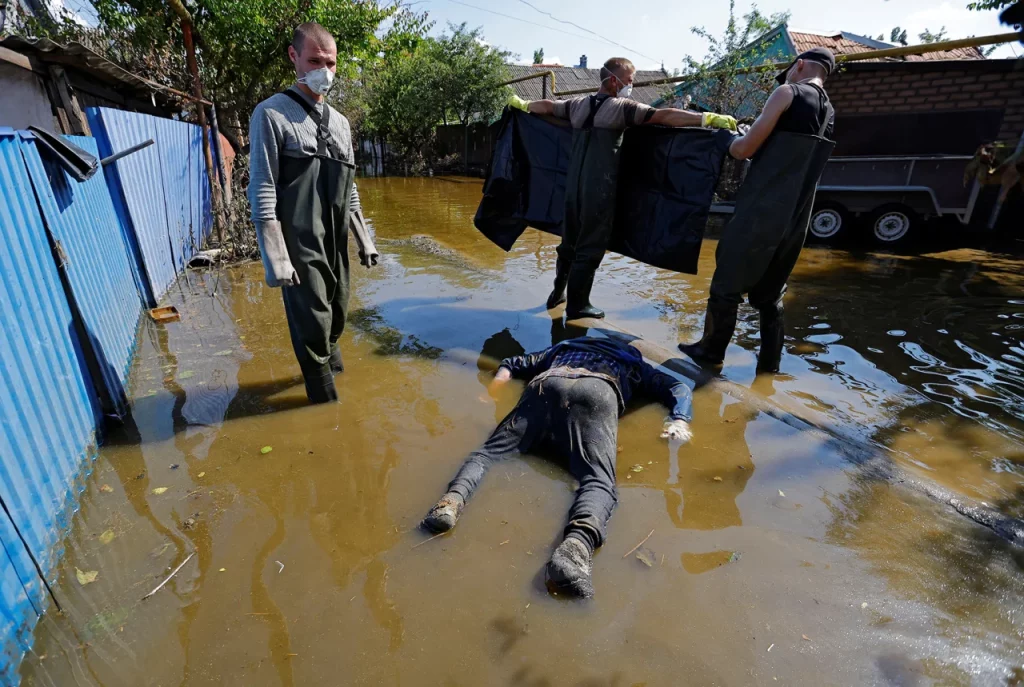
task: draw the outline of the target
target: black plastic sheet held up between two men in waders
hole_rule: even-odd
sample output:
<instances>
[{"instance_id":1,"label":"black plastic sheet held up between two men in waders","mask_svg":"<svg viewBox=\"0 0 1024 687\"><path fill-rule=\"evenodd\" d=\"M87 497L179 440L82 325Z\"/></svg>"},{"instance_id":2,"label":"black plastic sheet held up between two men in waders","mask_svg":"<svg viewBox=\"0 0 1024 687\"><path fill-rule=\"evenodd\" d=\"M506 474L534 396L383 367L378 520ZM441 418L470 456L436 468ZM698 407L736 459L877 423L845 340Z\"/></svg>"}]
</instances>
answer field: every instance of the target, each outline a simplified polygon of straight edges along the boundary
<instances>
[{"instance_id":1,"label":"black plastic sheet held up between two men in waders","mask_svg":"<svg viewBox=\"0 0 1024 687\"><path fill-rule=\"evenodd\" d=\"M734 134L635 127L626 132L609 250L695 274L708 212ZM507 110L474 224L508 251L532 226L561 235L568 123Z\"/></svg>"}]
</instances>

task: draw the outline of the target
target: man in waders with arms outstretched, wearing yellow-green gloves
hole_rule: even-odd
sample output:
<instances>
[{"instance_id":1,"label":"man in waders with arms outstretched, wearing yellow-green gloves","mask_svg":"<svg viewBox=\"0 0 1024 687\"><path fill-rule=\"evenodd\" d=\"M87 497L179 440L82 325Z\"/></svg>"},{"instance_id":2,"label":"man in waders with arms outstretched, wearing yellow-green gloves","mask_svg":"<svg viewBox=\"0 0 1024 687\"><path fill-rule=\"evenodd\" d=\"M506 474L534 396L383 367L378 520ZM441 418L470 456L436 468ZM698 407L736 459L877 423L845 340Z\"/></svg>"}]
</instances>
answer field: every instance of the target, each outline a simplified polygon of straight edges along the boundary
<instances>
[{"instance_id":1,"label":"man in waders with arms outstretched, wearing yellow-green gloves","mask_svg":"<svg viewBox=\"0 0 1024 687\"><path fill-rule=\"evenodd\" d=\"M630 99L636 68L625 57L612 57L601 68L601 90L571 100L523 100L513 95L509 105L535 115L550 115L572 125L572 158L565 186L565 219L555 265L555 288L548 308L568 302L565 314L603 317L590 303L604 251L615 221L618 153L623 131L630 126L713 127L736 130L736 120L714 113L654 110Z\"/></svg>"}]
</instances>

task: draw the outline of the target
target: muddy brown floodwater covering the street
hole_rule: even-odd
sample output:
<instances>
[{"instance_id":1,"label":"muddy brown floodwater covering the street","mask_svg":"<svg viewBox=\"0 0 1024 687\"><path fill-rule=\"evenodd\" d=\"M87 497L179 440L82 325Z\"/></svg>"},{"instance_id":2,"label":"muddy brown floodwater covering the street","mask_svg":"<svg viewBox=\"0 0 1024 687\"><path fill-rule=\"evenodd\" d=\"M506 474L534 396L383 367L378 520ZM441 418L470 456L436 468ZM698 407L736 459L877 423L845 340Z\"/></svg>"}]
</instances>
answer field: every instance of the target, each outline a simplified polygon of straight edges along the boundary
<instances>
[{"instance_id":1,"label":"muddy brown floodwater covering the street","mask_svg":"<svg viewBox=\"0 0 1024 687\"><path fill-rule=\"evenodd\" d=\"M359 188L384 257L353 268L341 402L305 405L258 265L176 286L181 321L143 328L134 424L99 450L57 571L67 615L39 625L24 684L1024 680L1019 550L708 388L690 445L658 439L664 409L622 420L592 602L544 588L573 490L548 459L497 467L459 526L424 544L418 521L522 388L486 396L497 359L573 332L541 305L555 240L487 243L472 226L479 182ZM698 276L609 255L595 301L674 349L698 333L714 248ZM783 374L755 380L746 311L724 374L1021 515L1021 267L809 248Z\"/></svg>"}]
</instances>

